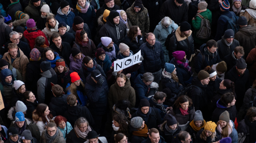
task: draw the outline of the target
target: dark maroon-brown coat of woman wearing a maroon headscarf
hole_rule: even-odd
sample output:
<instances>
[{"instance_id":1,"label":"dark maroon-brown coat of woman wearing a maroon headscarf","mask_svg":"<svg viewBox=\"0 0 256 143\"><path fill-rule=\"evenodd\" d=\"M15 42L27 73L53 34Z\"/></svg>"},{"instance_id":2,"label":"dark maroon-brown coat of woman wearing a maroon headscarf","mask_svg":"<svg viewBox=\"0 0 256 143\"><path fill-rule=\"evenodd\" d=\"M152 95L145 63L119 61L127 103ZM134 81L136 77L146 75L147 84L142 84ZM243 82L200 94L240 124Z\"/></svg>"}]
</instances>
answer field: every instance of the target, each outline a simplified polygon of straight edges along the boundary
<instances>
[{"instance_id":1,"label":"dark maroon-brown coat of woman wearing a maroon headscarf","mask_svg":"<svg viewBox=\"0 0 256 143\"><path fill-rule=\"evenodd\" d=\"M91 44L89 44L90 42L88 42L86 47L81 46L80 44L78 44L77 42L75 42L75 44L73 44L72 48L78 48L81 50L82 54L84 54L85 56L89 56L91 58L96 57L95 53L96 53L96 46L94 44L94 42L92 42L91 39L89 39L91 41ZM80 45L80 47L77 47L76 45Z\"/></svg>"}]
</instances>

